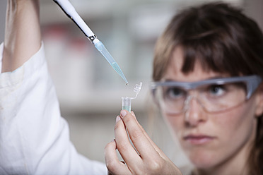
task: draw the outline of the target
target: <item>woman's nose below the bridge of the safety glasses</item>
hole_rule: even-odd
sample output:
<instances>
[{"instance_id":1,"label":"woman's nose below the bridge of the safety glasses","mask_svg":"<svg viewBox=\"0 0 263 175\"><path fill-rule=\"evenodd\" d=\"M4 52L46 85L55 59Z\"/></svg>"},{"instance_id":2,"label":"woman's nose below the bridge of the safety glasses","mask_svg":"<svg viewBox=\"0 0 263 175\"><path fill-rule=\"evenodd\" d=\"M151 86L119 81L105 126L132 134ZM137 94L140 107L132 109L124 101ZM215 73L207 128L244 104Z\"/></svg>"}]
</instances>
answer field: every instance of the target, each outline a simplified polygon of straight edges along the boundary
<instances>
[{"instance_id":1,"label":"woman's nose below the bridge of the safety glasses","mask_svg":"<svg viewBox=\"0 0 263 175\"><path fill-rule=\"evenodd\" d=\"M188 99L189 98L189 99ZM185 102L185 123L188 126L197 126L204 123L207 119L206 112L196 97L187 97Z\"/></svg>"}]
</instances>

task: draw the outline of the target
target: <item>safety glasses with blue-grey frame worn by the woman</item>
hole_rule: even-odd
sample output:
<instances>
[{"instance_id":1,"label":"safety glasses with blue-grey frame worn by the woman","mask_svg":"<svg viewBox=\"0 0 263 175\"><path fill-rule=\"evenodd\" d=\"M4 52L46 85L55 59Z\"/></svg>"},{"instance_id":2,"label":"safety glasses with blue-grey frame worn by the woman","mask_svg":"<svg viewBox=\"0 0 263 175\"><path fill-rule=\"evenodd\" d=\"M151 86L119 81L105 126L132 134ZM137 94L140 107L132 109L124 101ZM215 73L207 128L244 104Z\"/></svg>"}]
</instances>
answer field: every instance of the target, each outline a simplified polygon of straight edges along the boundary
<instances>
[{"instance_id":1,"label":"safety glasses with blue-grey frame worn by the woman","mask_svg":"<svg viewBox=\"0 0 263 175\"><path fill-rule=\"evenodd\" d=\"M239 76L214 78L197 82L153 82L153 97L168 114L180 114L192 99L207 112L219 112L238 106L250 99L262 78Z\"/></svg>"}]
</instances>

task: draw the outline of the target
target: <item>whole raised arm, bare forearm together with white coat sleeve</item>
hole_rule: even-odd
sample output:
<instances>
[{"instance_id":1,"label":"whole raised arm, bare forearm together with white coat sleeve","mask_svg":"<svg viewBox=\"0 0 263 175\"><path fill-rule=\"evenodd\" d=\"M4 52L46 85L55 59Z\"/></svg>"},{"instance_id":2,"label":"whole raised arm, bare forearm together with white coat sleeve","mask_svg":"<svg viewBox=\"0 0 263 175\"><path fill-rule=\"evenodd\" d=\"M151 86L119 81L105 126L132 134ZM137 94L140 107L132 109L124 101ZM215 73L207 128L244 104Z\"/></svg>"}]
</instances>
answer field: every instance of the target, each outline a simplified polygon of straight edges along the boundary
<instances>
[{"instance_id":1,"label":"whole raised arm, bare forearm together with white coat sleeve","mask_svg":"<svg viewBox=\"0 0 263 175\"><path fill-rule=\"evenodd\" d=\"M39 0L8 0L2 70L12 72L0 74L0 174L107 174L69 139L40 46L39 8Z\"/></svg>"}]
</instances>

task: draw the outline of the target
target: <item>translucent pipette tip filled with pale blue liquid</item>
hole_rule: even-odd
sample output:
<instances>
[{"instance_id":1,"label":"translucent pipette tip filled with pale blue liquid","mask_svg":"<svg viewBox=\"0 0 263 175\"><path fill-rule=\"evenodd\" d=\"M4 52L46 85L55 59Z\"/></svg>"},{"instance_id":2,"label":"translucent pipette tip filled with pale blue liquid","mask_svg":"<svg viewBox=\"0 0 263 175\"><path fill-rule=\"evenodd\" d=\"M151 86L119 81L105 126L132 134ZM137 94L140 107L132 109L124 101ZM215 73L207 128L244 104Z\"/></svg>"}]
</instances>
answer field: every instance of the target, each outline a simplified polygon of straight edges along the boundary
<instances>
[{"instance_id":1,"label":"translucent pipette tip filled with pale blue liquid","mask_svg":"<svg viewBox=\"0 0 263 175\"><path fill-rule=\"evenodd\" d=\"M110 52L107 51L104 44L102 42L97 42L95 44L96 49L103 54L104 58L109 62L109 64L114 68L114 70L119 74L119 76L122 77L122 79L125 81L126 85L128 85L128 81L125 78L124 74L122 73L122 70L119 68L119 65L116 63L115 59L113 59Z\"/></svg>"}]
</instances>

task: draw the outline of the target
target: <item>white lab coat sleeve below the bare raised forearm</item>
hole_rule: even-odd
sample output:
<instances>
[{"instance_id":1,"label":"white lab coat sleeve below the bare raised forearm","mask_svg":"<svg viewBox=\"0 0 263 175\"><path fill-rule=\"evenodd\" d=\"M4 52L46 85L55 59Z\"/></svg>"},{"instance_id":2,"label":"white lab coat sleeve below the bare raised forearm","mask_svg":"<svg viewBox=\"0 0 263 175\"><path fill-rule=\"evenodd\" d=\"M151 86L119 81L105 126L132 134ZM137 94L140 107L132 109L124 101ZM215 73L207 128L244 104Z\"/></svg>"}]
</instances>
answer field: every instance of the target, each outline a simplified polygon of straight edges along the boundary
<instances>
[{"instance_id":1,"label":"white lab coat sleeve below the bare raised forearm","mask_svg":"<svg viewBox=\"0 0 263 175\"><path fill-rule=\"evenodd\" d=\"M2 60L3 44L0 53ZM43 44L16 71L0 74L0 174L107 174L69 140Z\"/></svg>"}]
</instances>

